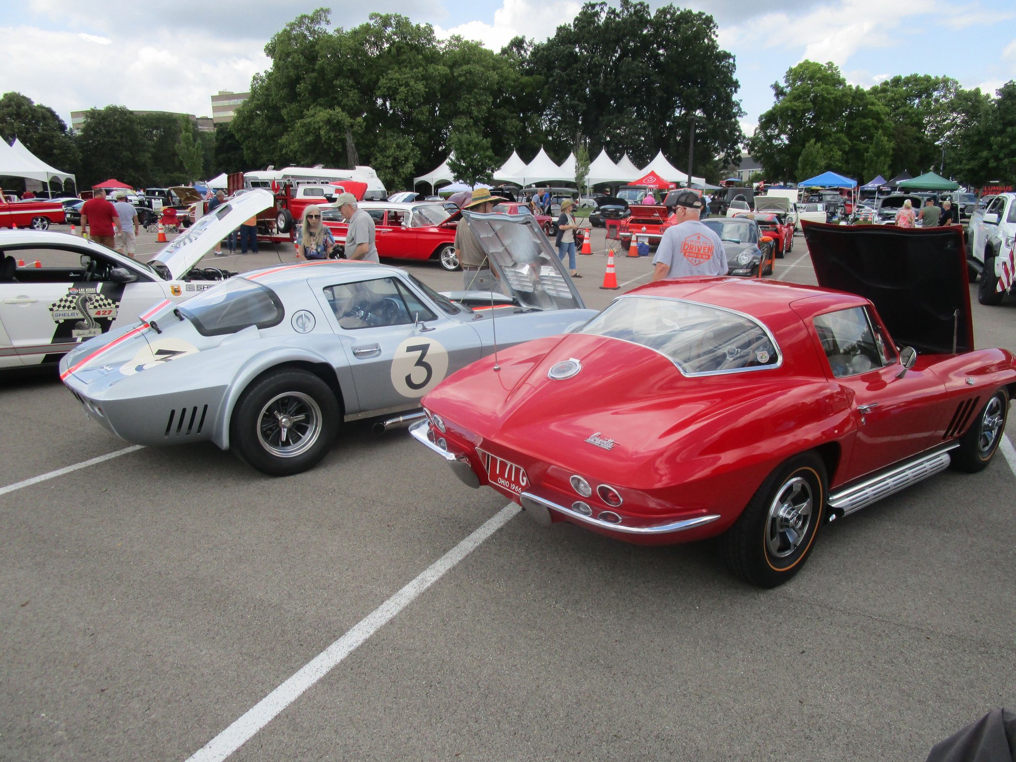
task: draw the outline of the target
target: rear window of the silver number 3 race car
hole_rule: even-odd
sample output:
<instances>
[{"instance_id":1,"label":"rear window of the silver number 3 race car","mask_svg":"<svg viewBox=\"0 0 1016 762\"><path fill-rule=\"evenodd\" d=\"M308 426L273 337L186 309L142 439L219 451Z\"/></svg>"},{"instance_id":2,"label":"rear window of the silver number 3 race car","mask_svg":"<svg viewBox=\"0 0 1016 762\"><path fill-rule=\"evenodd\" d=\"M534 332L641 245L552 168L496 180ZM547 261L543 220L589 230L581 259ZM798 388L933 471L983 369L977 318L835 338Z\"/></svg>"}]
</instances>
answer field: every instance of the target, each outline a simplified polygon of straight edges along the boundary
<instances>
[{"instance_id":1,"label":"rear window of the silver number 3 race car","mask_svg":"<svg viewBox=\"0 0 1016 762\"><path fill-rule=\"evenodd\" d=\"M236 333L252 325L270 328L285 315L275 292L240 276L188 299L179 310L203 336Z\"/></svg>"}]
</instances>

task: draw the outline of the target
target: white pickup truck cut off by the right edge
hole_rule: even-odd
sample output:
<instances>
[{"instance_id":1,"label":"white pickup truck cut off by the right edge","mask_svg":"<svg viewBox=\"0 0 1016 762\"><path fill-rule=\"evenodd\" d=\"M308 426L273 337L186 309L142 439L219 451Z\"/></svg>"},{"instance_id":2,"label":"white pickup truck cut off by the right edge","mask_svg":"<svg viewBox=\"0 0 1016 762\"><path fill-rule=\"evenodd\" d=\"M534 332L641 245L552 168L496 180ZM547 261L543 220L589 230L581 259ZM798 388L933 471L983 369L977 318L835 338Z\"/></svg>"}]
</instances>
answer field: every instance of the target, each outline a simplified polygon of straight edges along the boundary
<instances>
[{"instance_id":1,"label":"white pickup truck cut off by the right edge","mask_svg":"<svg viewBox=\"0 0 1016 762\"><path fill-rule=\"evenodd\" d=\"M1016 193L1000 193L970 218L966 258L970 269L980 275L977 301L981 304L1000 304L1007 292L1016 291L1011 274L1014 244Z\"/></svg>"}]
</instances>

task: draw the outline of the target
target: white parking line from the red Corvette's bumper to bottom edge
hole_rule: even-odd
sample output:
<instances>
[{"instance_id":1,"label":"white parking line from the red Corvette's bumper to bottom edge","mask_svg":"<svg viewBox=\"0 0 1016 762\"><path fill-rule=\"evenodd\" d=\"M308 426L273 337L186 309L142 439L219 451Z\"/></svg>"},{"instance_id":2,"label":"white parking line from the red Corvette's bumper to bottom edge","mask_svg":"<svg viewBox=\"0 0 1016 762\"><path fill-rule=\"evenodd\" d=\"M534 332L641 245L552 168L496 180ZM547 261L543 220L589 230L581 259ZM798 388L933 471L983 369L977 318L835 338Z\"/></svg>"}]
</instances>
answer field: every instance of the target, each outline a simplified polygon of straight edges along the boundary
<instances>
[{"instance_id":1,"label":"white parking line from the red Corvette's bumper to bottom edge","mask_svg":"<svg viewBox=\"0 0 1016 762\"><path fill-rule=\"evenodd\" d=\"M371 612L342 637L302 666L246 714L189 757L187 762L223 760L243 746L258 731L270 722L300 695L337 666L374 633L411 604L424 590L437 582L459 561L479 548L485 539L510 521L521 509L509 503L480 528L435 561L420 576L409 582L381 606Z\"/></svg>"}]
</instances>

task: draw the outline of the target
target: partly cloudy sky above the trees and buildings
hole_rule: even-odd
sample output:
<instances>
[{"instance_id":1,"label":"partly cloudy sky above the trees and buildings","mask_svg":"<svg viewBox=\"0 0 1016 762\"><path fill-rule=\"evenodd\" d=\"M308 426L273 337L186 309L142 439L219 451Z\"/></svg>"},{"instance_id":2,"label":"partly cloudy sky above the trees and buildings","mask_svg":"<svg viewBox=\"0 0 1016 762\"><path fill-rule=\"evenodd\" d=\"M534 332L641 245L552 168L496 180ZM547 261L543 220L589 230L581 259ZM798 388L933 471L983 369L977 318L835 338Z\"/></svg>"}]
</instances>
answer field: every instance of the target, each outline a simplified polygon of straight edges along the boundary
<instances>
[{"instance_id":1,"label":"partly cloudy sky above the trees and buildings","mask_svg":"<svg viewBox=\"0 0 1016 762\"><path fill-rule=\"evenodd\" d=\"M656 7L661 0L650 0ZM738 64L738 97L750 132L772 105L772 82L805 58L833 61L871 85L895 74L948 74L995 88L1016 78L1016 4L987 0L689 0L711 13ZM163 10L157 9L161 5ZM70 112L110 104L210 115L210 96L244 91L268 66L264 45L302 12L332 9L355 26L371 11L399 12L499 50L516 35L544 40L569 22L578 0L172 0L98 4L33 0L0 4L0 92L16 90ZM169 12L167 9L172 9Z\"/></svg>"}]
</instances>

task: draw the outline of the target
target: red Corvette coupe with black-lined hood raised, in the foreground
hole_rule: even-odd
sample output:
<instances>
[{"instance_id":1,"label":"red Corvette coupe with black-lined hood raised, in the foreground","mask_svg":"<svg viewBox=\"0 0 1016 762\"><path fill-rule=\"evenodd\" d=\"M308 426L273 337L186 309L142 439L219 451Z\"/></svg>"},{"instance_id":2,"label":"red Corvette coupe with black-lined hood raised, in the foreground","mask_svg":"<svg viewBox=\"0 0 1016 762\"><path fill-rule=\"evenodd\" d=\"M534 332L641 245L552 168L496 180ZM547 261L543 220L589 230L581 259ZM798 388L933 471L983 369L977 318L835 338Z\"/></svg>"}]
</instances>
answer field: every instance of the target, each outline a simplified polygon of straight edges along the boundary
<instances>
[{"instance_id":1,"label":"red Corvette coupe with black-lined hood raised, in the foreground","mask_svg":"<svg viewBox=\"0 0 1016 762\"><path fill-rule=\"evenodd\" d=\"M782 583L824 522L983 468L1016 392L1016 359L973 348L959 228L805 236L827 288L641 287L446 379L414 437L544 524L721 535L736 573Z\"/></svg>"}]
</instances>

